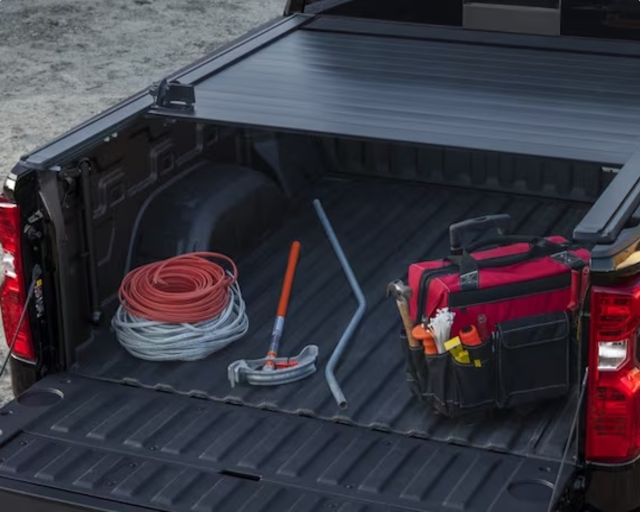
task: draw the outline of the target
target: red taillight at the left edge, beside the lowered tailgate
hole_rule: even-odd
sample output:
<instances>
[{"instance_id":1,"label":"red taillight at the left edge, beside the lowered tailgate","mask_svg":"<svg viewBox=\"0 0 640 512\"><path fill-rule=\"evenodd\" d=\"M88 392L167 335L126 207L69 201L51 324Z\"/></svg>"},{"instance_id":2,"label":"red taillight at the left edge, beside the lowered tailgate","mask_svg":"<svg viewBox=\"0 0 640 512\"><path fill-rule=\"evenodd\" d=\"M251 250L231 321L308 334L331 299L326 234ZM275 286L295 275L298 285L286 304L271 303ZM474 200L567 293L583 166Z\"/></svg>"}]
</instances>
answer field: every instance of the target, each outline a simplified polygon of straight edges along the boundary
<instances>
[{"instance_id":1,"label":"red taillight at the left edge, beside the lowered tailgate","mask_svg":"<svg viewBox=\"0 0 640 512\"><path fill-rule=\"evenodd\" d=\"M12 203L0 200L0 244L2 244L2 263L4 284L0 294L4 337L11 343L17 328L22 308L27 298L27 289L22 273L22 233L20 232L20 210ZM33 361L35 352L31 339L28 318L20 326L13 353L20 358Z\"/></svg>"}]
</instances>

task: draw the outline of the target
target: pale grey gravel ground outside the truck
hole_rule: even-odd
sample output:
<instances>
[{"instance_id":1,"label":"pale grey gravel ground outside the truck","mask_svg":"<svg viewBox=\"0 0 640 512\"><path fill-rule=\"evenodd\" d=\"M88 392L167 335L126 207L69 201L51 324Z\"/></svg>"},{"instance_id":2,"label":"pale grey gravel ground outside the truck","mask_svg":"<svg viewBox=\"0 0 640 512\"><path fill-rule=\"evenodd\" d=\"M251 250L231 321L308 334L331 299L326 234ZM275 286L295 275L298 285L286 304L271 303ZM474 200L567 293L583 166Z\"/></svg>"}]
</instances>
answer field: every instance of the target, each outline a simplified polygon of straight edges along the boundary
<instances>
[{"instance_id":1,"label":"pale grey gravel ground outside the truck","mask_svg":"<svg viewBox=\"0 0 640 512\"><path fill-rule=\"evenodd\" d=\"M279 15L284 3L0 1L0 178L20 154ZM0 404L10 399L4 375Z\"/></svg>"}]
</instances>

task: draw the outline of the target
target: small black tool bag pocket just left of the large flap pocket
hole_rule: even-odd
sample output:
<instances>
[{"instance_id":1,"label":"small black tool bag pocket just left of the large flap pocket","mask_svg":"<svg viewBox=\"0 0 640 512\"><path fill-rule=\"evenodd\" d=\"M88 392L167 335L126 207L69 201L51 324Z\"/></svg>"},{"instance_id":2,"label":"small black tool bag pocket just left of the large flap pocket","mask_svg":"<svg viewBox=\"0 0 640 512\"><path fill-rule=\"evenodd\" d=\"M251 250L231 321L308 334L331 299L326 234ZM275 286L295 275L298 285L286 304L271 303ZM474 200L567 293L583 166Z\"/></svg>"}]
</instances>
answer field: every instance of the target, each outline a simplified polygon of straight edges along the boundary
<instances>
[{"instance_id":1,"label":"small black tool bag pocket just left of the large flap pocket","mask_svg":"<svg viewBox=\"0 0 640 512\"><path fill-rule=\"evenodd\" d=\"M450 358L461 412L495 408L495 353L493 341L465 346L470 364Z\"/></svg>"}]
</instances>

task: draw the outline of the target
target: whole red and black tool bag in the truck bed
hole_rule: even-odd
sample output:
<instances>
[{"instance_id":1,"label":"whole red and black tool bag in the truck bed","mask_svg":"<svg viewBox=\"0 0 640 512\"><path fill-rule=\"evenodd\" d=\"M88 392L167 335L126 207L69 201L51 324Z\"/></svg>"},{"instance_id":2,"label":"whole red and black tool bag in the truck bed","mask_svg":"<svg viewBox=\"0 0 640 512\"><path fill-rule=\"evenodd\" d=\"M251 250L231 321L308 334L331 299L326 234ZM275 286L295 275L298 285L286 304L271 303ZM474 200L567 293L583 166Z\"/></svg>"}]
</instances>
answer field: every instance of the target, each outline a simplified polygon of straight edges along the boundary
<instances>
[{"instance_id":1,"label":"whole red and black tool bag in the truck bed","mask_svg":"<svg viewBox=\"0 0 640 512\"><path fill-rule=\"evenodd\" d=\"M449 417L563 396L571 386L573 314L584 300L589 252L566 239L499 236L469 244L442 260L410 266L415 323L448 307L451 337L484 314L490 339L464 346L475 364L410 349L413 392Z\"/></svg>"}]
</instances>

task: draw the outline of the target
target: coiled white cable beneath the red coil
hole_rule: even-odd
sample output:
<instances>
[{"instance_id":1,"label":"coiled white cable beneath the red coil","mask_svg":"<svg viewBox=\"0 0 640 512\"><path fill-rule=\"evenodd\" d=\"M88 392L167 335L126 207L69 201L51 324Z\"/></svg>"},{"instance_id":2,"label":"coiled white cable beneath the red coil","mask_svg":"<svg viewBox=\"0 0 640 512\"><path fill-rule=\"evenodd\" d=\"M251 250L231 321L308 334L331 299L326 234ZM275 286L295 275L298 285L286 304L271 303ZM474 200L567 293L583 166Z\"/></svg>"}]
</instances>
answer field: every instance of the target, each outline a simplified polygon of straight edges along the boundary
<instances>
[{"instance_id":1,"label":"coiled white cable beneath the red coil","mask_svg":"<svg viewBox=\"0 0 640 512\"><path fill-rule=\"evenodd\" d=\"M111 320L120 344L147 361L196 361L243 337L249 330L240 286L229 287L228 306L211 320L164 323L133 316L122 306Z\"/></svg>"}]
</instances>

